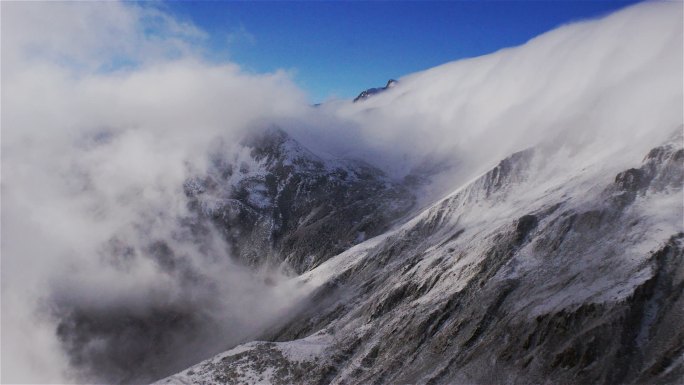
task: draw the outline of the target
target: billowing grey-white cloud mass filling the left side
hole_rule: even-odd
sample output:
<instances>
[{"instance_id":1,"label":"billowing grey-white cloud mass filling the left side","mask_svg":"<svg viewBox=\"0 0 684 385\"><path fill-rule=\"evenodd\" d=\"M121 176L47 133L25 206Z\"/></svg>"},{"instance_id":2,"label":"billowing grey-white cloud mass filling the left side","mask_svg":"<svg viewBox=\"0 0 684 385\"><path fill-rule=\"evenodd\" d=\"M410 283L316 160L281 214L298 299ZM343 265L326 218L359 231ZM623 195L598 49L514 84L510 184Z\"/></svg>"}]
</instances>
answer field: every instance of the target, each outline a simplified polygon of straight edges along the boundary
<instances>
[{"instance_id":1,"label":"billowing grey-white cloud mass filling the left side","mask_svg":"<svg viewBox=\"0 0 684 385\"><path fill-rule=\"evenodd\" d=\"M3 3L2 28L2 381L153 380L278 317L294 290L227 258L183 182L303 93L154 8Z\"/></svg>"}]
</instances>

